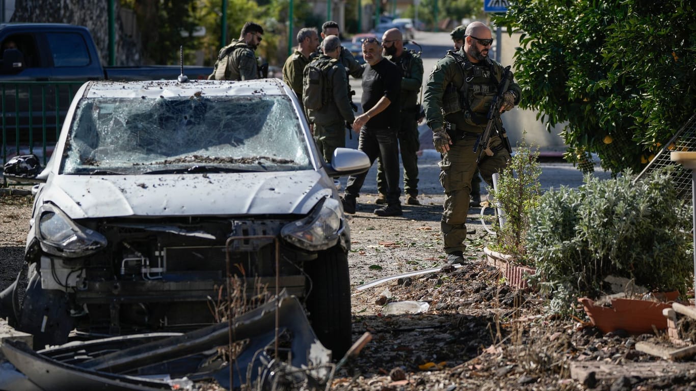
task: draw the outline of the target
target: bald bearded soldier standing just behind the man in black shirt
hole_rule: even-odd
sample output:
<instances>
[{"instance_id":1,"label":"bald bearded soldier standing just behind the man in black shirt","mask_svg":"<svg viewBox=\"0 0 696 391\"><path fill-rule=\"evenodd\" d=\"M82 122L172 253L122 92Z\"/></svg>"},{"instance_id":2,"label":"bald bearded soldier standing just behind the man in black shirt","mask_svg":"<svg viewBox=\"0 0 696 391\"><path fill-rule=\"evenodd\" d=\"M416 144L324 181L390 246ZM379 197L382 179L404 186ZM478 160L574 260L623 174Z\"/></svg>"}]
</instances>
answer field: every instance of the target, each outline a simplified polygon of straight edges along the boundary
<instances>
[{"instance_id":1,"label":"bald bearded soldier standing just behind the man in black shirt","mask_svg":"<svg viewBox=\"0 0 696 391\"><path fill-rule=\"evenodd\" d=\"M404 49L404 41L399 29L389 29L382 36L384 58L395 63L401 70L401 109L400 126L397 127L401 161L404 166L404 193L406 205L420 205L418 201L418 91L423 83L423 61L420 54L413 50ZM382 161L377 161L377 191L379 197L376 203L383 205L386 199L386 179Z\"/></svg>"}]
</instances>

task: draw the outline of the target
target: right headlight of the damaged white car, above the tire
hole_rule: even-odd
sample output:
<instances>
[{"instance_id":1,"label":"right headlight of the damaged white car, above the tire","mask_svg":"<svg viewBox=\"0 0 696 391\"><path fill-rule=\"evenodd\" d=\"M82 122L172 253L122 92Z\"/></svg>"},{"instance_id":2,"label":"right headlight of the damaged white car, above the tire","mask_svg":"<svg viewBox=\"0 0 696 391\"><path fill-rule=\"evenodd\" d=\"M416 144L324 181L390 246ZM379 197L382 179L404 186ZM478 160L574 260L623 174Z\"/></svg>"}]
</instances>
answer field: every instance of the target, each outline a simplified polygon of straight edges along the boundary
<instances>
[{"instance_id":1,"label":"right headlight of the damaged white car, above the tire","mask_svg":"<svg viewBox=\"0 0 696 391\"><path fill-rule=\"evenodd\" d=\"M324 197L309 216L285 225L280 236L295 246L315 251L335 246L342 231L343 218L338 200Z\"/></svg>"}]
</instances>

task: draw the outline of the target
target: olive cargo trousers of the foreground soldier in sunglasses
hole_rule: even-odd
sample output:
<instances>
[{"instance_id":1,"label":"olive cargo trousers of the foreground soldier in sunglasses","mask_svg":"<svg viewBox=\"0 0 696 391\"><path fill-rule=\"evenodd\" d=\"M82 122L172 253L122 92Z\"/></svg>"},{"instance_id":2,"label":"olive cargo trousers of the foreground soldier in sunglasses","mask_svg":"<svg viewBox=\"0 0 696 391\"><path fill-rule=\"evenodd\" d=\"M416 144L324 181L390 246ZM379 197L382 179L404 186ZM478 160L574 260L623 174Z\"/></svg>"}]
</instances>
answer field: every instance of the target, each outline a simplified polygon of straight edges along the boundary
<instances>
[{"instance_id":1,"label":"olive cargo trousers of the foreground soldier in sunglasses","mask_svg":"<svg viewBox=\"0 0 696 391\"><path fill-rule=\"evenodd\" d=\"M469 212L469 194L471 193L471 178L476 172L477 153L473 152L477 135L466 134L461 140L450 145L450 151L445 153L440 166L440 183L445 189L445 205L443 205L440 229L442 231L445 253L464 251L466 239L466 217ZM507 166L510 154L502 145L500 137L491 137L491 149L496 151L493 156L482 152L479 170L483 180L491 185L494 173Z\"/></svg>"}]
</instances>

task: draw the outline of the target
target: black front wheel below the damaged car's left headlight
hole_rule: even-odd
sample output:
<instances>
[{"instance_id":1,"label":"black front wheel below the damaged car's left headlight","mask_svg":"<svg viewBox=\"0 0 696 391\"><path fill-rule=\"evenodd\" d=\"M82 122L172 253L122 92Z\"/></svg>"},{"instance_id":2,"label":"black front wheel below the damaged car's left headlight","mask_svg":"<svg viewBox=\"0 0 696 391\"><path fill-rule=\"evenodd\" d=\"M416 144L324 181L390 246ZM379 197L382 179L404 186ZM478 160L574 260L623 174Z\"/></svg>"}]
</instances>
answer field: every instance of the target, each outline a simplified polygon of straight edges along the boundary
<instances>
[{"instance_id":1,"label":"black front wheel below the damaged car's left headlight","mask_svg":"<svg viewBox=\"0 0 696 391\"><path fill-rule=\"evenodd\" d=\"M18 330L34 336L35 350L45 345L60 345L68 342L73 319L65 292L41 287L41 275L35 264L29 265L29 282L26 285L24 303L19 315Z\"/></svg>"}]
</instances>

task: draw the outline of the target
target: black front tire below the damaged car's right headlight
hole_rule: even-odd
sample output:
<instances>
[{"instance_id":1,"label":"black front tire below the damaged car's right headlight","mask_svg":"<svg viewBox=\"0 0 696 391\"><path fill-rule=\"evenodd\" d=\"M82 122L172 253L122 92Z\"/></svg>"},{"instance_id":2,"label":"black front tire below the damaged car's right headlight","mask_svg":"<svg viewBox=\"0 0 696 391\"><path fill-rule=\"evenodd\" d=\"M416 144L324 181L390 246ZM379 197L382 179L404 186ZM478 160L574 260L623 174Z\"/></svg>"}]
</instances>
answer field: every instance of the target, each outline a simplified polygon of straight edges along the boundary
<instances>
[{"instance_id":1,"label":"black front tire below the damaged car's right headlight","mask_svg":"<svg viewBox=\"0 0 696 391\"><path fill-rule=\"evenodd\" d=\"M341 248L319 253L306 264L311 279L307 298L312 328L334 360L340 360L351 346L351 303L348 255Z\"/></svg>"}]
</instances>

